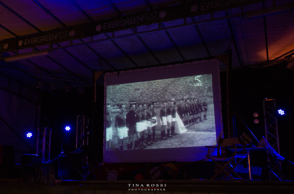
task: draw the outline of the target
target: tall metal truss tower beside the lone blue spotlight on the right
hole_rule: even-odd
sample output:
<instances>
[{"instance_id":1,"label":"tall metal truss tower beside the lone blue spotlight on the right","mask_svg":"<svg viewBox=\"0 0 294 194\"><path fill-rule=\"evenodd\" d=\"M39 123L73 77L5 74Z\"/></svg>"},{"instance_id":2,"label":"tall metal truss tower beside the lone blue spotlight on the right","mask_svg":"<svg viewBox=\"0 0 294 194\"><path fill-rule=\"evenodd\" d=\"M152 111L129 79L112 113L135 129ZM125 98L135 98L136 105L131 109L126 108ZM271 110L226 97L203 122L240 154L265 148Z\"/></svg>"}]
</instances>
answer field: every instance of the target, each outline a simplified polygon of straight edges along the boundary
<instances>
[{"instance_id":1,"label":"tall metal truss tower beside the lone blue spotlight on the right","mask_svg":"<svg viewBox=\"0 0 294 194\"><path fill-rule=\"evenodd\" d=\"M280 154L278 122L276 118L276 101L275 99L263 100L263 113L265 124L265 138L268 143ZM269 178L276 177L282 180L281 162L269 164Z\"/></svg>"}]
</instances>

